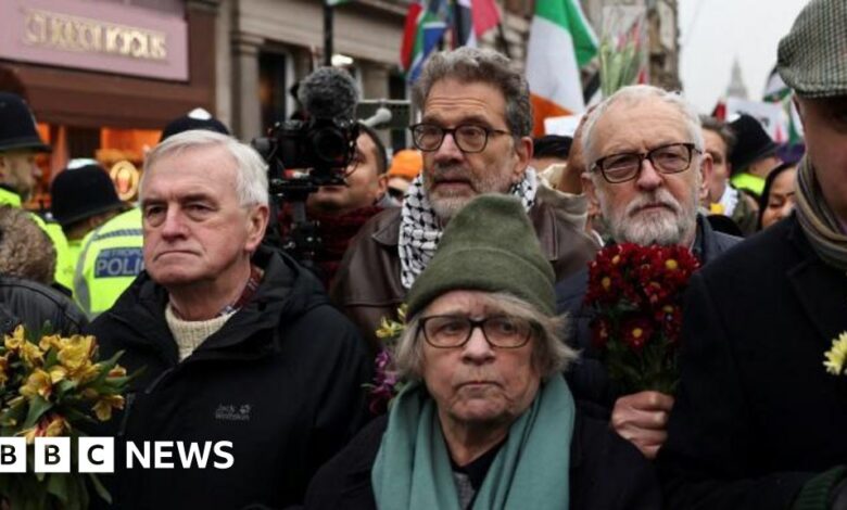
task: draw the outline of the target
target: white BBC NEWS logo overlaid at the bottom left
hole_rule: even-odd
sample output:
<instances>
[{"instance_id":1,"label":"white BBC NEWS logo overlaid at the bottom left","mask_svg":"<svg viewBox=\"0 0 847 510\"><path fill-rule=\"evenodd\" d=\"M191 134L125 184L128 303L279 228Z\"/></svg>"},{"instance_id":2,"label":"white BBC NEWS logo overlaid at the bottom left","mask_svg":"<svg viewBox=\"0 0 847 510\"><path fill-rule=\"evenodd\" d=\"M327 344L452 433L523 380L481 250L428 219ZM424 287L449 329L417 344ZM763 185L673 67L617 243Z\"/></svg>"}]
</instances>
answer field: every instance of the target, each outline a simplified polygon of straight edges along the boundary
<instances>
[{"instance_id":1,"label":"white BBC NEWS logo overlaid at the bottom left","mask_svg":"<svg viewBox=\"0 0 847 510\"><path fill-rule=\"evenodd\" d=\"M156 441L125 443L126 469L229 469L236 459L232 443ZM69 473L69 437L36 437L33 448L36 473ZM0 437L0 473L26 472L26 438ZM115 438L79 437L77 466L80 473L114 473Z\"/></svg>"}]
</instances>

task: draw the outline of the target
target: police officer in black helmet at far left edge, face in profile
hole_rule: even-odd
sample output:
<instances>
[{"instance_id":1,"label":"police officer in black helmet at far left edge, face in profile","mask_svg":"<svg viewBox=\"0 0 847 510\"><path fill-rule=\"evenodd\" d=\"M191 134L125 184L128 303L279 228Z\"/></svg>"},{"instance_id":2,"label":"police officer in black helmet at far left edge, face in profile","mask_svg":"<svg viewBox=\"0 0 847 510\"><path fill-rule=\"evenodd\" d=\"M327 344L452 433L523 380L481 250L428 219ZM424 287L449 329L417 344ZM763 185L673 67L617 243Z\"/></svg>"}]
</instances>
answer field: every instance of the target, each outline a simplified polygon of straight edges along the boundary
<instances>
[{"instance_id":1,"label":"police officer in black helmet at far left edge, face in profile","mask_svg":"<svg viewBox=\"0 0 847 510\"><path fill-rule=\"evenodd\" d=\"M0 92L0 205L21 207L29 200L41 170L36 165L36 155L49 152L36 128L35 117L26 103L17 95ZM67 241L62 228L47 222L39 216L33 219L47 232L56 252L56 281L67 271L71 260Z\"/></svg>"}]
</instances>

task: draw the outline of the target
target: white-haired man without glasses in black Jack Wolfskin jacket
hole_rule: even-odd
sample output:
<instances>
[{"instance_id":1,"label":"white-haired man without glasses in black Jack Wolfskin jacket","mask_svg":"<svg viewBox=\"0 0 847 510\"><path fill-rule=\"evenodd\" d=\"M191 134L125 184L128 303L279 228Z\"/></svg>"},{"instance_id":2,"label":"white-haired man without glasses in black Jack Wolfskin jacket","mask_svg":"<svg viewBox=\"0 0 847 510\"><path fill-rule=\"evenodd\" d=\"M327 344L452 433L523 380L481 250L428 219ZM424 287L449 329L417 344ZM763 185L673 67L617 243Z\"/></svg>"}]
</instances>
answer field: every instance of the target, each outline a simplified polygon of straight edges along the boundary
<instances>
[{"instance_id":1,"label":"white-haired man without glasses in black Jack Wolfskin jacket","mask_svg":"<svg viewBox=\"0 0 847 510\"><path fill-rule=\"evenodd\" d=\"M267 178L248 145L168 138L147 157L140 197L146 271L90 328L105 356L125 350L129 372L146 369L113 420L116 507L299 503L363 424L364 343L308 271L258 247ZM125 442L174 442L174 469L125 469ZM180 443L207 464L186 467Z\"/></svg>"}]
</instances>

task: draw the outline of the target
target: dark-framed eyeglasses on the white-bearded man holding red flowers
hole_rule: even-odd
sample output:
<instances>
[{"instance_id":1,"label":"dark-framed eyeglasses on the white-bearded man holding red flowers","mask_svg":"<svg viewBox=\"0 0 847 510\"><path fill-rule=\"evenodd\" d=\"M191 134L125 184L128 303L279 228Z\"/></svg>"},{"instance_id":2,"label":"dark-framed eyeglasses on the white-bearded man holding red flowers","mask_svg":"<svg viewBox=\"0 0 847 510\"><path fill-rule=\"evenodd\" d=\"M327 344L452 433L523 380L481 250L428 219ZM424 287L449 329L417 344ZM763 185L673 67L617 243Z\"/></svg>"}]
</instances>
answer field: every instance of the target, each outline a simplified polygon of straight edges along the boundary
<instances>
[{"instance_id":1,"label":"dark-framed eyeglasses on the white-bearded man holding red flowers","mask_svg":"<svg viewBox=\"0 0 847 510\"><path fill-rule=\"evenodd\" d=\"M644 167L644 160L649 160L656 171L660 174L685 171L691 167L695 152L701 151L694 146L694 143L668 143L648 152L624 152L601 157L594 166L599 168L604 179L616 184L639 177Z\"/></svg>"}]
</instances>

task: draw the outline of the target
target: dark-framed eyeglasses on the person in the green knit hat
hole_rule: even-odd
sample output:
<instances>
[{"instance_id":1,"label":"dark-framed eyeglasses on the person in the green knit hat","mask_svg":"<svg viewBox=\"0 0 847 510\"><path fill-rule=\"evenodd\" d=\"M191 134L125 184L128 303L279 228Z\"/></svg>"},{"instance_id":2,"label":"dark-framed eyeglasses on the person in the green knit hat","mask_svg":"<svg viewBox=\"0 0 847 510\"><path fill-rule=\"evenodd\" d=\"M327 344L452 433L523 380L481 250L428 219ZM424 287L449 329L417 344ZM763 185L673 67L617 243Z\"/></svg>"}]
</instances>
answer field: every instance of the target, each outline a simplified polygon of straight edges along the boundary
<instances>
[{"instance_id":1,"label":"dark-framed eyeglasses on the person in the green knit hat","mask_svg":"<svg viewBox=\"0 0 847 510\"><path fill-rule=\"evenodd\" d=\"M482 330L489 345L501 348L518 348L527 345L535 329L533 323L520 317L491 316L471 319L457 315L433 315L420 319L418 331L433 347L462 347L470 340L473 330Z\"/></svg>"}]
</instances>

